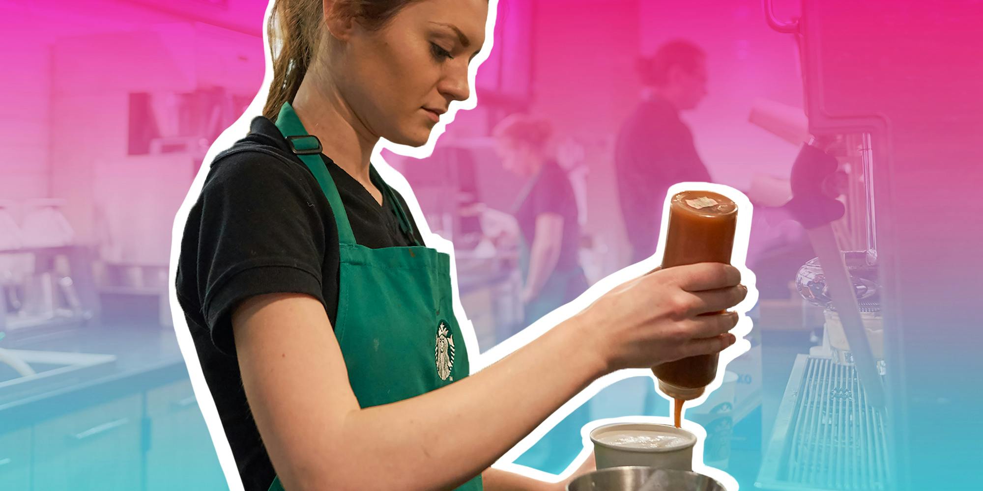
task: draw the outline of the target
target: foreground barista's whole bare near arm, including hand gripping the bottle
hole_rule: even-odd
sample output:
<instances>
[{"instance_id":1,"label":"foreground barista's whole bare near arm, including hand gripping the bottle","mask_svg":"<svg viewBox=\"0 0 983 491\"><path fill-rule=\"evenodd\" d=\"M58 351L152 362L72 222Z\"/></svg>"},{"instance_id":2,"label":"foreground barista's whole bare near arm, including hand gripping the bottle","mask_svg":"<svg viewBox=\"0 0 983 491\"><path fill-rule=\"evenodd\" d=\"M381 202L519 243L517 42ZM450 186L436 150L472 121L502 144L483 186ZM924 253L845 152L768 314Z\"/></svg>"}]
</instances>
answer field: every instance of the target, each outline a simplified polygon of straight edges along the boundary
<instances>
[{"instance_id":1,"label":"foreground barista's whole bare near arm, including hand gripping the bottle","mask_svg":"<svg viewBox=\"0 0 983 491\"><path fill-rule=\"evenodd\" d=\"M454 488L610 371L719 353L747 294L724 264L677 266L613 288L463 380L361 409L320 301L269 294L232 316L246 397L284 487Z\"/></svg>"}]
</instances>

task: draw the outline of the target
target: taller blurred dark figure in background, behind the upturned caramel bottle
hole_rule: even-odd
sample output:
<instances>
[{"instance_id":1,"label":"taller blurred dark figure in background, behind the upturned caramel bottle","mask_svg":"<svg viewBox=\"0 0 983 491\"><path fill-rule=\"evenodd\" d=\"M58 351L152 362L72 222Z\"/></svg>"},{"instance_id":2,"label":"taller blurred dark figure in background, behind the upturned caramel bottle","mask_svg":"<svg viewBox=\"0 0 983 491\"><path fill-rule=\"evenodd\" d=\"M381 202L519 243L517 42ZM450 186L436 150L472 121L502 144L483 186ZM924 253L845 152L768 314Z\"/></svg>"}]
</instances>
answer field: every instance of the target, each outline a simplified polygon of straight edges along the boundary
<instances>
[{"instance_id":1,"label":"taller blurred dark figure in background, behind the upturned caramel bottle","mask_svg":"<svg viewBox=\"0 0 983 491\"><path fill-rule=\"evenodd\" d=\"M711 181L693 134L679 118L707 95L706 53L692 42L665 42L638 63L642 101L618 132L614 172L631 261L656 252L668 188Z\"/></svg>"}]
</instances>

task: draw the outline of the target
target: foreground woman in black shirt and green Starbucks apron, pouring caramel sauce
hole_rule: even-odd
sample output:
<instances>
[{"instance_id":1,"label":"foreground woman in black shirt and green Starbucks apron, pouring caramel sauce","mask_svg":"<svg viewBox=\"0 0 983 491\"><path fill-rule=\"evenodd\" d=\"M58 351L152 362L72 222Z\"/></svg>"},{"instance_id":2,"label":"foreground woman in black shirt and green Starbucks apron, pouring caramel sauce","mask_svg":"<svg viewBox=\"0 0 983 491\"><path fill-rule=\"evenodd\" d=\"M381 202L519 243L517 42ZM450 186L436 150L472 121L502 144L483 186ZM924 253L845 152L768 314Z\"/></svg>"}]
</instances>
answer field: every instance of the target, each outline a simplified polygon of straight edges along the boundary
<instances>
[{"instance_id":1,"label":"foreground woman in black shirt and green Starbucks apron, pouring caramel sauce","mask_svg":"<svg viewBox=\"0 0 983 491\"><path fill-rule=\"evenodd\" d=\"M739 273L702 264L618 287L470 374L449 258L370 156L380 137L424 144L468 98L487 15L276 0L264 114L211 164L177 272L246 489L558 490L489 467L611 370L733 343L736 316L697 314L736 304Z\"/></svg>"}]
</instances>

